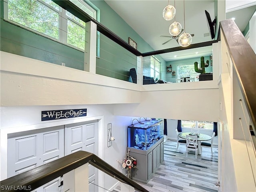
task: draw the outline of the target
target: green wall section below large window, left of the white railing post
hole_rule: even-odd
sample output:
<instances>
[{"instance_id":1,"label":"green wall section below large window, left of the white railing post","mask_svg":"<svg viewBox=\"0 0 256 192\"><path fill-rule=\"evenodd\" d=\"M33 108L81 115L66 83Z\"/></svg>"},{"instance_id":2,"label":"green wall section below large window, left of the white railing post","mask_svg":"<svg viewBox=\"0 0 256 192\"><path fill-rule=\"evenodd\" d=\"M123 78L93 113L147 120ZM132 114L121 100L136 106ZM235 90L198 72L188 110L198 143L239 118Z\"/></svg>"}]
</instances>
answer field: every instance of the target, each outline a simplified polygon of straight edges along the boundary
<instances>
[{"instance_id":1,"label":"green wall section below large window, left of the white railing post","mask_svg":"<svg viewBox=\"0 0 256 192\"><path fill-rule=\"evenodd\" d=\"M84 70L83 52L4 21L3 5L0 1L1 51Z\"/></svg>"}]
</instances>

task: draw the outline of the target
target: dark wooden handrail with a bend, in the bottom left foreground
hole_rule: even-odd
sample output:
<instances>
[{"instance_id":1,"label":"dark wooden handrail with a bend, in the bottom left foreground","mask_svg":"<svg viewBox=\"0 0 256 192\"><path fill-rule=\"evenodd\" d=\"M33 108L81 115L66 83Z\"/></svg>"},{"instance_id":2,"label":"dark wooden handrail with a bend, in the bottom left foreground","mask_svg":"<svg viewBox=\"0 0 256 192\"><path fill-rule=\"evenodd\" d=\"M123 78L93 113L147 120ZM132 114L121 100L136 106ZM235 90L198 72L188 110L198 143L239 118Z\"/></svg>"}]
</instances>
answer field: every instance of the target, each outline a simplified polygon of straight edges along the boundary
<instances>
[{"instance_id":1,"label":"dark wooden handrail with a bend, in the bottom left foreground","mask_svg":"<svg viewBox=\"0 0 256 192\"><path fill-rule=\"evenodd\" d=\"M20 188L20 186L23 186L27 189L26 191L29 192L86 163L92 164L120 182L134 187L136 190L148 192L148 190L126 177L98 156L86 151L78 151L69 154L50 163L38 166L32 170L28 170L16 176L2 180L0 183L0 190L1 192L17 192L17 189ZM8 189L6 186L13 187Z\"/></svg>"}]
</instances>

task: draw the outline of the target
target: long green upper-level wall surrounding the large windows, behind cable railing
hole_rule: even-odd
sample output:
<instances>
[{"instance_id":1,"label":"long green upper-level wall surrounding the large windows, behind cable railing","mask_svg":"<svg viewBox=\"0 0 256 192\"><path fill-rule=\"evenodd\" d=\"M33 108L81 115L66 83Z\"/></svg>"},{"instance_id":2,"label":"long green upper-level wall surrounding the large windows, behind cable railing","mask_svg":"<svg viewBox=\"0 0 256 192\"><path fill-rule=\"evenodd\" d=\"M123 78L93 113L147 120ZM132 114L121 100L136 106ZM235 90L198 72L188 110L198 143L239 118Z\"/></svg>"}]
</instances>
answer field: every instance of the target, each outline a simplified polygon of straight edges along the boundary
<instances>
[{"instance_id":1,"label":"long green upper-level wall surrounding the large windows, behind cable railing","mask_svg":"<svg viewBox=\"0 0 256 192\"><path fill-rule=\"evenodd\" d=\"M88 2L88 1L86 1ZM3 1L0 1L0 50L34 58L54 64L84 70L84 52L62 43L35 34L22 27L6 22L3 18ZM128 42L128 37L137 43L140 52L153 49L146 43L114 10L103 0L89 2L98 13L98 20L117 36ZM100 58L96 59L96 73L105 76L128 80L130 68L136 68L137 57L100 34ZM159 56L157 56L159 58ZM162 59L162 58L161 58Z\"/></svg>"}]
</instances>

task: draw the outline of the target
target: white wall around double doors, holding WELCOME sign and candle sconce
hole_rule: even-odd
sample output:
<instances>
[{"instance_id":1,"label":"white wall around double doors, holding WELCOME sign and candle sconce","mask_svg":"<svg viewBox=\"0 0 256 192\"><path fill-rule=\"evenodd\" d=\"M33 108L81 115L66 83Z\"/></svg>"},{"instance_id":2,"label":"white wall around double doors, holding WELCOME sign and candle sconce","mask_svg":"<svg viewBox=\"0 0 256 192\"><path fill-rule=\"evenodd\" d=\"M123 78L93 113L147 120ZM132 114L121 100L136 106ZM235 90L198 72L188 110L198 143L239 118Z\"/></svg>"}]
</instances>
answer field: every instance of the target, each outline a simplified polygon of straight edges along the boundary
<instances>
[{"instance_id":1,"label":"white wall around double doors, holding WELCOME sign and candle sconce","mask_svg":"<svg viewBox=\"0 0 256 192\"><path fill-rule=\"evenodd\" d=\"M41 121L41 111L44 110L64 110L74 108L87 108L87 116L82 118L70 118L62 120ZM114 168L122 170L122 166L116 160L126 157L127 151L127 126L131 124L132 117L122 117L113 115L113 106L108 105L63 105L63 106L8 106L1 107L1 129L0 129L0 148L1 148L1 180L6 178L7 161L7 133L34 130L56 125L71 124L75 122L88 121L91 119L101 119L99 123L99 156ZM112 146L107 147L108 123L112 123L112 136L115 141ZM104 174L99 180L99 185L110 189L117 180Z\"/></svg>"}]
</instances>

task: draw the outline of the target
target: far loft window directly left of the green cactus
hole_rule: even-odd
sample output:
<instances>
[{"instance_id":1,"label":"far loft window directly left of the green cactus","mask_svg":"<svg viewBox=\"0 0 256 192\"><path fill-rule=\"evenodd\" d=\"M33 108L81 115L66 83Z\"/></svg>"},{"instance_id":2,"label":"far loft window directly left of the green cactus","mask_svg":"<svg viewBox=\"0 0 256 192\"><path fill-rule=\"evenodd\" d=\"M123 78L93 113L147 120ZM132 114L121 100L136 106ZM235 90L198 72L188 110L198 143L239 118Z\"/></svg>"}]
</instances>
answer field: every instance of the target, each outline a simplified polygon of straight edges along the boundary
<instances>
[{"instance_id":1,"label":"far loft window directly left of the green cactus","mask_svg":"<svg viewBox=\"0 0 256 192\"><path fill-rule=\"evenodd\" d=\"M190 77L195 78L198 76L198 73L194 70L194 64L178 65L177 66L177 78Z\"/></svg>"}]
</instances>

